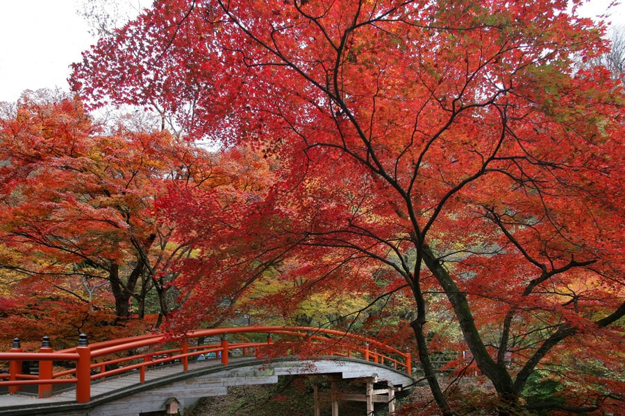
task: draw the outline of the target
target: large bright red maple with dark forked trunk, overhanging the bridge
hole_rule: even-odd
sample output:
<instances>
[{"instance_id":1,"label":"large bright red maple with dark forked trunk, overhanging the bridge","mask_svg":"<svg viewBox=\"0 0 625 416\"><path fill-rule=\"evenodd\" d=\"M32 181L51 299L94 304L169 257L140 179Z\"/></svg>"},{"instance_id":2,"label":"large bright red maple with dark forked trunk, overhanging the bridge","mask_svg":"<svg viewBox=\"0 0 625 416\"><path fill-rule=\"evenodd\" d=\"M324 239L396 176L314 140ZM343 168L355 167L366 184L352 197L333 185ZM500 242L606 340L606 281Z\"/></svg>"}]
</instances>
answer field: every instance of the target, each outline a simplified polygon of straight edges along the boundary
<instances>
[{"instance_id":1,"label":"large bright red maple with dark forked trunk, overhanging the bridge","mask_svg":"<svg viewBox=\"0 0 625 416\"><path fill-rule=\"evenodd\" d=\"M566 10L162 0L101 40L74 68L82 94L158 102L191 137L251 142L279 164L267 192L163 202L203 247L179 281L178 323L290 260L283 279L304 279L299 294L408 288L445 415L428 345L438 294L502 414L622 400L623 91L606 69L574 69L606 45ZM524 393L556 367L557 397Z\"/></svg>"}]
</instances>

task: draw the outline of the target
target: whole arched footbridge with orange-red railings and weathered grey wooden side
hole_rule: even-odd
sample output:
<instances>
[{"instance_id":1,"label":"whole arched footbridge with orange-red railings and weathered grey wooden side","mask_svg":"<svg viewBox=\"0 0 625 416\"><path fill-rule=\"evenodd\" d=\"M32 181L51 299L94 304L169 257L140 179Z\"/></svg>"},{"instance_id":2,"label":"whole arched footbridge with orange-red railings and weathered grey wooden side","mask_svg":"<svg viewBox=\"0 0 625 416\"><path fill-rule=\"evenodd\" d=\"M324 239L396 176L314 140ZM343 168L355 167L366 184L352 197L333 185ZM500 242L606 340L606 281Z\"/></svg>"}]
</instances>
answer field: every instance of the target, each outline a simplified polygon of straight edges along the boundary
<instances>
[{"instance_id":1,"label":"whole arched footbridge with orange-red railings and weathered grey wooden side","mask_svg":"<svg viewBox=\"0 0 625 416\"><path fill-rule=\"evenodd\" d=\"M92 412L99 406L96 402L119 401L140 393L153 401L157 390L170 396L169 403L160 404L160 409L165 406L165 410L172 410L180 403L176 391L179 395L194 394L190 385L198 390L197 399L226 394L228 385L275 383L277 376L284 374L331 374L332 380L338 374L339 379L367 383L367 395L341 398L332 381L334 415L338 414L338 399L367 401L367 409L373 409L373 401L385 401L392 408L397 386L413 381L410 354L354 333L313 327L198 329L176 336L144 335L90 345L87 336L81 335L77 347L59 351L53 351L44 337L38 352L24 352L16 338L10 352L0 352L2 363L8 363L8 372L0 374L0 388L9 393L0 395L3 415L50 415L58 411L78 415L88 409L90 415L99 414ZM37 370L30 371L31 366ZM190 381L195 379L197 383ZM218 379L226 380L219 385L221 390L208 392L207 385ZM373 390L374 383L380 382L387 386L383 399ZM319 412L319 397L315 389L315 414ZM124 406L133 405L127 399ZM33 410L37 408L40 413ZM130 413L106 412L149 413L136 408Z\"/></svg>"}]
</instances>

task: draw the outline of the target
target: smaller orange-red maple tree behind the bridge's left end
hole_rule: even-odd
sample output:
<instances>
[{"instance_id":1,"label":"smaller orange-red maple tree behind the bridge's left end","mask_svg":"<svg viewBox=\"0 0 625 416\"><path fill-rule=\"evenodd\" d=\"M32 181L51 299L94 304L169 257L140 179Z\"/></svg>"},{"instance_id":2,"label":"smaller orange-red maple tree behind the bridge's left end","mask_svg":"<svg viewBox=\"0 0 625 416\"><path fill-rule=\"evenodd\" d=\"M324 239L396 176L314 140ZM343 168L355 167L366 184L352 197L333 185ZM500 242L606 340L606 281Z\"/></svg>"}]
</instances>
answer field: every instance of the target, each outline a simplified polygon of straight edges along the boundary
<instances>
[{"instance_id":1,"label":"smaller orange-red maple tree behind the bridge's left end","mask_svg":"<svg viewBox=\"0 0 625 416\"><path fill-rule=\"evenodd\" d=\"M174 244L154 200L170 184L217 186L224 173L167 131L113 129L105 135L76 99L36 94L0 120L0 264L14 281L47 281L81 302L109 293L117 319L133 301L139 318L167 315L172 261L191 247Z\"/></svg>"}]
</instances>

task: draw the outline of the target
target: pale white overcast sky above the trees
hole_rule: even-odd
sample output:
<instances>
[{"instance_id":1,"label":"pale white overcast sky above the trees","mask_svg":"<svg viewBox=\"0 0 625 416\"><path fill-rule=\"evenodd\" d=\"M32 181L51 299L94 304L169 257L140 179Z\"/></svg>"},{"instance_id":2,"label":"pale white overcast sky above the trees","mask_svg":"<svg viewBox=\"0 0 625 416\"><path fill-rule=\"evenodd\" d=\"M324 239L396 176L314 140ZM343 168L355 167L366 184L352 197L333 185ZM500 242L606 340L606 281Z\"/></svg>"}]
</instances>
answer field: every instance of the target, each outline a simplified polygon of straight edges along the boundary
<instances>
[{"instance_id":1,"label":"pale white overcast sky above the trees","mask_svg":"<svg viewBox=\"0 0 625 416\"><path fill-rule=\"evenodd\" d=\"M0 0L0 101L17 101L25 89L68 89L69 65L81 60L81 52L95 42L78 15L86 1ZM117 0L124 2L151 4L150 0ZM583 15L601 15L609 3L591 0ZM625 4L615 8L611 20L625 22Z\"/></svg>"}]
</instances>

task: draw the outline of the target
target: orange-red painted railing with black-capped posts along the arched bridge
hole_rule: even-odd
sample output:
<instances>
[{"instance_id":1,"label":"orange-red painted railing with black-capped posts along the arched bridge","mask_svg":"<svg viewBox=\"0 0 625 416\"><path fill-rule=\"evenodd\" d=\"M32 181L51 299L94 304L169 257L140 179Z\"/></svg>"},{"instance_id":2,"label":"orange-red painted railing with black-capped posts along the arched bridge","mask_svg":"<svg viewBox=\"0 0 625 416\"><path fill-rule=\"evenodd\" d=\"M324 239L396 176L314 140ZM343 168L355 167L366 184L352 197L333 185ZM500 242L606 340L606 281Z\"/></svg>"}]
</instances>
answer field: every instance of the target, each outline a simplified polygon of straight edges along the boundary
<instances>
[{"instance_id":1,"label":"orange-red painted railing with black-capped posts along the arched bridge","mask_svg":"<svg viewBox=\"0 0 625 416\"><path fill-rule=\"evenodd\" d=\"M262 341L228 340L241 335ZM203 343L208 339L208 343ZM14 340L10 352L0 352L0 362L8 362L8 373L0 374L0 386L8 386L10 393L19 392L24 385L37 385L41 398L50 397L54 384L75 384L76 401L87 403L91 398L92 381L119 374L139 372L140 383L145 382L149 367L179 362L188 371L190 361L219 359L228 365L233 354L271 359L278 356L319 358L320 356L347 356L411 372L410 354L384 345L377 340L332 329L313 327L233 327L197 329L177 336L162 334L107 340L88 345L81 335L78 347L54 352L44 337L39 352L23 352L19 340ZM26 374L22 363L37 362L38 374ZM67 369L54 371L53 363L63 363Z\"/></svg>"}]
</instances>

